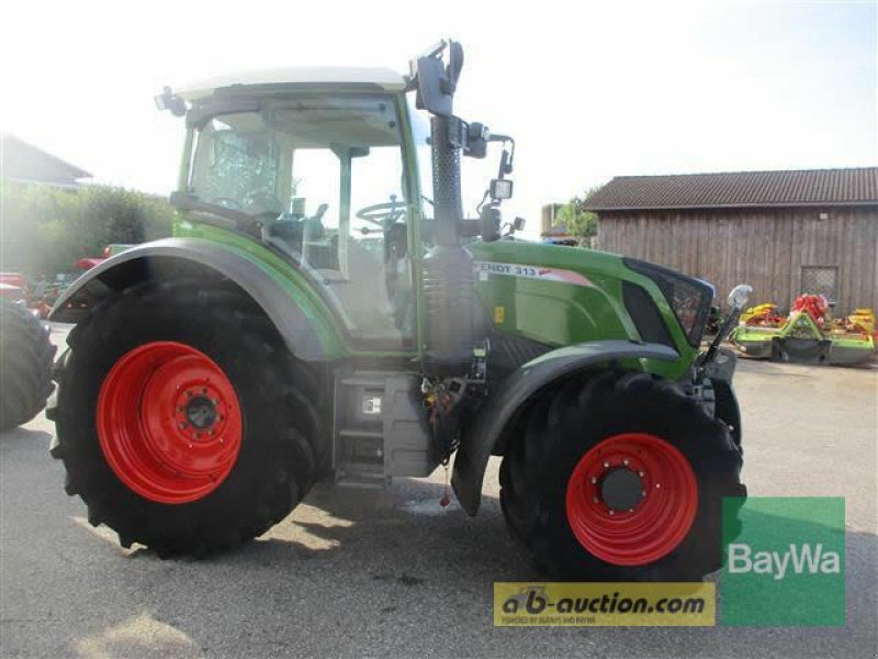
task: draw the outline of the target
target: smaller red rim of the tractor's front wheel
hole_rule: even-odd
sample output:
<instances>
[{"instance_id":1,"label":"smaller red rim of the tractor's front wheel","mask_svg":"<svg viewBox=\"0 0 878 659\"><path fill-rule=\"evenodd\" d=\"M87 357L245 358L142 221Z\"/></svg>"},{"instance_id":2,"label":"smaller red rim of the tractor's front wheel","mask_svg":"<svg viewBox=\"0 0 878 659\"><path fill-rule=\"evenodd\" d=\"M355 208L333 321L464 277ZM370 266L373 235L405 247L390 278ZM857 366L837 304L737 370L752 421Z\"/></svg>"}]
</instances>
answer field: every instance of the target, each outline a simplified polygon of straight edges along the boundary
<instances>
[{"instance_id":1,"label":"smaller red rim of the tractor's front wheel","mask_svg":"<svg viewBox=\"0 0 878 659\"><path fill-rule=\"evenodd\" d=\"M605 501L608 474L628 470L640 479L639 501L619 510ZM629 482L632 477L626 474ZM671 554L689 533L698 511L698 482L689 460L668 442L624 433L585 454L567 482L566 513L573 535L597 558L642 566Z\"/></svg>"}]
</instances>

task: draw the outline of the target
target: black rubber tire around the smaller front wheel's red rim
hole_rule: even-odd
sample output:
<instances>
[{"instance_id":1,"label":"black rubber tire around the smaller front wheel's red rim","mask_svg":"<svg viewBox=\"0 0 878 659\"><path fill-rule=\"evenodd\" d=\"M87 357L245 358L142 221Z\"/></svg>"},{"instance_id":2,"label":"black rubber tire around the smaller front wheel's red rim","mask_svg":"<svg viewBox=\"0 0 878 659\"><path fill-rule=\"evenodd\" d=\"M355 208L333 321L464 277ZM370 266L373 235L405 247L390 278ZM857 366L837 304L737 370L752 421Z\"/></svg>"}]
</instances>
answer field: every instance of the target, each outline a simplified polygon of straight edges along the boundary
<instances>
[{"instance_id":1,"label":"black rubber tire around the smaller front wheel's red rim","mask_svg":"<svg viewBox=\"0 0 878 659\"><path fill-rule=\"evenodd\" d=\"M601 440L649 433L676 447L691 466L698 509L683 540L646 565L596 557L567 521L567 483L579 459ZM722 560L722 499L744 496L741 453L725 425L697 401L646 373L593 373L543 391L510 438L500 467L500 504L521 554L540 572L589 581L693 581Z\"/></svg>"}]
</instances>

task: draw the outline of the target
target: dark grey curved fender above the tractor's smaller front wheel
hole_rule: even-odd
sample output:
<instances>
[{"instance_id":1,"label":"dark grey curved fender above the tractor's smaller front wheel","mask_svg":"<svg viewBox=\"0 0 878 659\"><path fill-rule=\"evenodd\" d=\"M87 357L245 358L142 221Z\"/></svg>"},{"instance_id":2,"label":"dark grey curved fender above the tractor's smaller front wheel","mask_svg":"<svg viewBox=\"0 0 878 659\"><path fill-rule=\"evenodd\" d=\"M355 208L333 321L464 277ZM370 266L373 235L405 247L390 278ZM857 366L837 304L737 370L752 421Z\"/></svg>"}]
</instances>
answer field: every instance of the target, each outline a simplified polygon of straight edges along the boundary
<instances>
[{"instance_id":1,"label":"dark grey curved fender above the tractor's smaller front wheel","mask_svg":"<svg viewBox=\"0 0 878 659\"><path fill-rule=\"evenodd\" d=\"M461 507L479 512L482 482L491 453L516 412L539 390L588 366L620 359L674 361L679 355L658 344L595 340L545 353L509 376L479 411L479 417L461 440L451 483Z\"/></svg>"}]
</instances>

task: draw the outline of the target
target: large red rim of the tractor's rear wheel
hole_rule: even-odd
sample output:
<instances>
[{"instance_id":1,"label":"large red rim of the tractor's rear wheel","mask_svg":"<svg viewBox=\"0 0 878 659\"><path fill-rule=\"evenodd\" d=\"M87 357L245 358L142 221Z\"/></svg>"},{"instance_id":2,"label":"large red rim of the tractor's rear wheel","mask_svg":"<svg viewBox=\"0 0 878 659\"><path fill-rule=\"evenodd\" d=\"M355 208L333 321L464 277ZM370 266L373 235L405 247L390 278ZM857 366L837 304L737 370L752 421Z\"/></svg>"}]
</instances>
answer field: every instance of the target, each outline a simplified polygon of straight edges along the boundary
<instances>
[{"instance_id":1,"label":"large red rim of the tractor's rear wheel","mask_svg":"<svg viewBox=\"0 0 878 659\"><path fill-rule=\"evenodd\" d=\"M160 503L206 496L240 450L232 382L204 353L180 343L149 343L123 355L101 386L97 425L119 479Z\"/></svg>"}]
</instances>

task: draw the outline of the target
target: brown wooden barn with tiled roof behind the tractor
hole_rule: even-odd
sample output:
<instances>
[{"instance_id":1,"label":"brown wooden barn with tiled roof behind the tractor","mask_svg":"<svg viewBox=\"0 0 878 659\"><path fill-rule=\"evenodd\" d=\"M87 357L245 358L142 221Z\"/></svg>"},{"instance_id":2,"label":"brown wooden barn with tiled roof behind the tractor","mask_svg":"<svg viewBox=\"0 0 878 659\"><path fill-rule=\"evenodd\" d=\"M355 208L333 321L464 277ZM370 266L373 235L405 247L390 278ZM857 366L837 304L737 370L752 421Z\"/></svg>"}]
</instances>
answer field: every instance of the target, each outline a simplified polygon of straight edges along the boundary
<instances>
[{"instance_id":1,"label":"brown wooden barn with tiled roof behind the tractor","mask_svg":"<svg viewBox=\"0 0 878 659\"><path fill-rule=\"evenodd\" d=\"M620 176L585 208L599 249L706 279L723 306L745 282L781 310L801 293L878 309L878 167Z\"/></svg>"}]
</instances>

